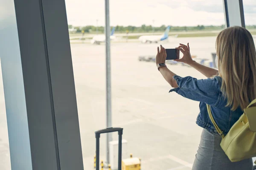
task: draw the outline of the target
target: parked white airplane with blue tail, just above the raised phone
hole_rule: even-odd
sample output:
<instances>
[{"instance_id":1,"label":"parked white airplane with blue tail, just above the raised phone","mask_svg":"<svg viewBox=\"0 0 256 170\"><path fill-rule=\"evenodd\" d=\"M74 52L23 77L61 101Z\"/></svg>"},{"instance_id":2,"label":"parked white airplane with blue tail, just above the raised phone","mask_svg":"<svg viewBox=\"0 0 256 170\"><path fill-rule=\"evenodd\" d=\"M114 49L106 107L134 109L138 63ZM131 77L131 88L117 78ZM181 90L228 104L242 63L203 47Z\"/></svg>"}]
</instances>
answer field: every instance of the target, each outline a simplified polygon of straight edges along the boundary
<instances>
[{"instance_id":1,"label":"parked white airplane with blue tail, just above the raised phone","mask_svg":"<svg viewBox=\"0 0 256 170\"><path fill-rule=\"evenodd\" d=\"M170 31L170 26L166 28L166 31L164 32L163 35L143 35L139 37L140 42L142 43L152 43L155 42L157 43L158 41L163 41L168 39L169 37L178 37L178 35L174 36L169 36L169 31Z\"/></svg>"}]
</instances>

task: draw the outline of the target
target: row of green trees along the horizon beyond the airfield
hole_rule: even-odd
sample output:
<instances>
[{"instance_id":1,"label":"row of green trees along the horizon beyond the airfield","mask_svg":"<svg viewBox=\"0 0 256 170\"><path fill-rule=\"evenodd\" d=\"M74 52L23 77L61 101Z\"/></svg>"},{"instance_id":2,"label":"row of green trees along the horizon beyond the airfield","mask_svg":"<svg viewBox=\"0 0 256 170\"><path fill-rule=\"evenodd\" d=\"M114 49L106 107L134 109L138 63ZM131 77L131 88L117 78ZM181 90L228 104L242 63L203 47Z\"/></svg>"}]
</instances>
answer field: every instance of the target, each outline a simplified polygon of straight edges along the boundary
<instances>
[{"instance_id":1,"label":"row of green trees along the horizon beyond the airfield","mask_svg":"<svg viewBox=\"0 0 256 170\"><path fill-rule=\"evenodd\" d=\"M83 26L77 27L69 25L69 28L75 28L77 33L85 32L85 33L104 33L103 26ZM167 26L162 25L160 27L152 27L151 25L147 26L143 24L142 26L115 26L115 31L119 33L136 33L136 32L163 32L166 30ZM251 29L255 29L256 26L249 26ZM112 28L112 27L111 27ZM170 26L170 31L214 31L224 29L225 25L221 26ZM246 27L247 28L247 27Z\"/></svg>"}]
</instances>

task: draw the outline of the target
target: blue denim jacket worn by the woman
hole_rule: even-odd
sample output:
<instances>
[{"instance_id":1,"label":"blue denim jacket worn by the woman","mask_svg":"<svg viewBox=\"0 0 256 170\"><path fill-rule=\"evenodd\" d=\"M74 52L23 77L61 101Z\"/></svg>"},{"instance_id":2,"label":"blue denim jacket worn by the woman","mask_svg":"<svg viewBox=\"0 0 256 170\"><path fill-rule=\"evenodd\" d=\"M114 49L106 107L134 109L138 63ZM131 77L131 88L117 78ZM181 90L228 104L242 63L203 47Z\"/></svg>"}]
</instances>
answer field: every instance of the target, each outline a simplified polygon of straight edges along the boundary
<instances>
[{"instance_id":1,"label":"blue denim jacket worn by the woman","mask_svg":"<svg viewBox=\"0 0 256 170\"><path fill-rule=\"evenodd\" d=\"M241 108L232 111L230 106L226 107L227 99L225 99L221 92L221 77L195 79L193 77L175 75L173 78L177 81L179 87L169 92L175 91L183 97L199 101L200 113L198 114L196 124L209 130L211 133L217 133L217 131L209 119L206 104L210 105L212 116L224 135L228 133L230 128L243 114Z\"/></svg>"}]
</instances>

